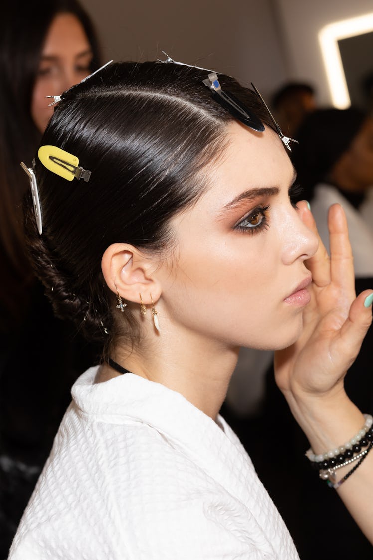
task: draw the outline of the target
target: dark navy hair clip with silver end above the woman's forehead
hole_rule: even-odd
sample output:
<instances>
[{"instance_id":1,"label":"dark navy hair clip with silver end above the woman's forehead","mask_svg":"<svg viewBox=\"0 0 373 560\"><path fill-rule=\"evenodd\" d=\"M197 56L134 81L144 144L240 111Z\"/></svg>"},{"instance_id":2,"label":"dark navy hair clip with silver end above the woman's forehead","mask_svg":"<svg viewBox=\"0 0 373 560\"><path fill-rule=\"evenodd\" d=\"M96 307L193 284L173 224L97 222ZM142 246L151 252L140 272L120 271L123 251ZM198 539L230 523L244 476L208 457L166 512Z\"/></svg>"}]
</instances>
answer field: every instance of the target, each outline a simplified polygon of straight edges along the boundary
<instances>
[{"instance_id":1,"label":"dark navy hair clip with silver end above the woman's forehead","mask_svg":"<svg viewBox=\"0 0 373 560\"><path fill-rule=\"evenodd\" d=\"M253 130L257 130L258 132L264 131L265 127L263 123L258 119L257 115L253 113L253 111L248 109L229 91L223 91L221 89L216 72L210 73L206 80L202 80L202 82L211 90L211 94L213 95L215 101L218 101L224 109L228 110L235 119L240 120L240 122Z\"/></svg>"}]
</instances>

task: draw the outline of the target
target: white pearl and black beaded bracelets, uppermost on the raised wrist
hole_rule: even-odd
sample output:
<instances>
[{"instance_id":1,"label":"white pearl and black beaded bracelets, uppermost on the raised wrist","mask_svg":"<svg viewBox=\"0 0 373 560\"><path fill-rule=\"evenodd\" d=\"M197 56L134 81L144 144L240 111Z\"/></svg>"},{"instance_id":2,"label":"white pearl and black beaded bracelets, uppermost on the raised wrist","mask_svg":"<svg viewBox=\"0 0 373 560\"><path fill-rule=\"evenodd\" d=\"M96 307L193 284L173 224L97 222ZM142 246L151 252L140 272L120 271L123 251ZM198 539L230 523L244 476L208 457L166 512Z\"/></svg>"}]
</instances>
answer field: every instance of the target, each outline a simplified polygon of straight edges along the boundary
<instances>
[{"instance_id":1,"label":"white pearl and black beaded bracelets, uppermost on the raised wrist","mask_svg":"<svg viewBox=\"0 0 373 560\"><path fill-rule=\"evenodd\" d=\"M313 468L325 470L341 465L344 461L350 460L355 453L359 453L361 447L366 447L373 441L373 417L370 414L363 416L365 418L363 427L346 444L321 454L315 454L311 448L306 451L305 455L311 461Z\"/></svg>"}]
</instances>

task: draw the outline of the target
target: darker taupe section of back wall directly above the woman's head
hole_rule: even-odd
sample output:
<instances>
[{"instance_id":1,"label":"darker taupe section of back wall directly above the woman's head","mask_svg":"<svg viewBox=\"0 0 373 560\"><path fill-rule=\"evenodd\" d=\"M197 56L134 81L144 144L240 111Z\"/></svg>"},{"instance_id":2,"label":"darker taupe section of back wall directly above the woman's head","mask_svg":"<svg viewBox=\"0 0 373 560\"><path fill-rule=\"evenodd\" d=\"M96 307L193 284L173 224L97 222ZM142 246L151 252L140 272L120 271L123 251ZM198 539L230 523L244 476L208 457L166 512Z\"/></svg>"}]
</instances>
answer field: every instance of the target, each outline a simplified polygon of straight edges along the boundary
<instances>
[{"instance_id":1,"label":"darker taupe section of back wall directly above the woman's head","mask_svg":"<svg viewBox=\"0 0 373 560\"><path fill-rule=\"evenodd\" d=\"M263 95L285 79L271 0L82 0L105 60L172 58L250 82Z\"/></svg>"}]
</instances>

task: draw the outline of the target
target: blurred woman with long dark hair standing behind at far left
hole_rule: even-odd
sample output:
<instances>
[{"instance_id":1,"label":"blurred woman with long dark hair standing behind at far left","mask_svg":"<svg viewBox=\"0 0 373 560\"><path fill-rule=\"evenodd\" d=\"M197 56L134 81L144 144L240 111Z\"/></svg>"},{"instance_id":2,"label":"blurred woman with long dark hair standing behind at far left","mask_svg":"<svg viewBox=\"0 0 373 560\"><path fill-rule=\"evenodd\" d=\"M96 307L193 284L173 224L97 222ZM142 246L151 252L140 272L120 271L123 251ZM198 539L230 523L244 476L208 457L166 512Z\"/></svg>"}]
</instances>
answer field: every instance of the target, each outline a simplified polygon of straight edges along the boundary
<instances>
[{"instance_id":1,"label":"blurred woman with long dark hair standing behind at far left","mask_svg":"<svg viewBox=\"0 0 373 560\"><path fill-rule=\"evenodd\" d=\"M71 382L93 359L53 316L25 255L20 160L34 157L60 94L99 66L92 22L75 0L4 3L0 18L0 556L50 451ZM88 360L88 362L87 362Z\"/></svg>"}]
</instances>

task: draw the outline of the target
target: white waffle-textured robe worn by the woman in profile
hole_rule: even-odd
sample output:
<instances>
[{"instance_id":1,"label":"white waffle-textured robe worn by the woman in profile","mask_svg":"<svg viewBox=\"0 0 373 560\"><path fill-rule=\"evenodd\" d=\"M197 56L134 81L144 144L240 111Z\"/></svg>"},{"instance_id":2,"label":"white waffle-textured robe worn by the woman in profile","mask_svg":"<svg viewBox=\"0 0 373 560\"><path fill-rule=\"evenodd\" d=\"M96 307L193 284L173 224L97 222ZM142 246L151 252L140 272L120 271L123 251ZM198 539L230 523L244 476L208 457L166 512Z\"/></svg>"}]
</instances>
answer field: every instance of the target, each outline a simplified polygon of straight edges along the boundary
<instances>
[{"instance_id":1,"label":"white waffle-textured robe worn by the woman in profile","mask_svg":"<svg viewBox=\"0 0 373 560\"><path fill-rule=\"evenodd\" d=\"M10 560L298 559L223 418L139 376L96 374L72 388Z\"/></svg>"}]
</instances>

